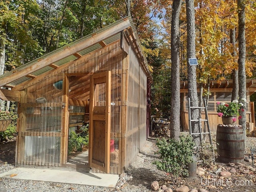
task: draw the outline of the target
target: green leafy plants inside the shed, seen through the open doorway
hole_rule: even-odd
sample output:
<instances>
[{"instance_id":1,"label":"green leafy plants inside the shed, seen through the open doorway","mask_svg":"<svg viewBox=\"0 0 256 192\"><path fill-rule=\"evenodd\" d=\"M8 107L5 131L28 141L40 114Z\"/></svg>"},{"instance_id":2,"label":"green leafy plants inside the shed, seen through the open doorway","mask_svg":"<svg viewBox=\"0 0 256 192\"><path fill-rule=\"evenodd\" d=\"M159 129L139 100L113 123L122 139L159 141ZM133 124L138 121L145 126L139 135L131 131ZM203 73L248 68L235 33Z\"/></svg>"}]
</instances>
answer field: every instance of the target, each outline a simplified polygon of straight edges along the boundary
<instances>
[{"instance_id":1,"label":"green leafy plants inside the shed, seen through the open doorway","mask_svg":"<svg viewBox=\"0 0 256 192\"><path fill-rule=\"evenodd\" d=\"M89 135L88 135L88 126L80 128L82 132L76 134L76 132L71 131L68 138L68 155L73 151L82 151L83 146L88 145Z\"/></svg>"}]
</instances>

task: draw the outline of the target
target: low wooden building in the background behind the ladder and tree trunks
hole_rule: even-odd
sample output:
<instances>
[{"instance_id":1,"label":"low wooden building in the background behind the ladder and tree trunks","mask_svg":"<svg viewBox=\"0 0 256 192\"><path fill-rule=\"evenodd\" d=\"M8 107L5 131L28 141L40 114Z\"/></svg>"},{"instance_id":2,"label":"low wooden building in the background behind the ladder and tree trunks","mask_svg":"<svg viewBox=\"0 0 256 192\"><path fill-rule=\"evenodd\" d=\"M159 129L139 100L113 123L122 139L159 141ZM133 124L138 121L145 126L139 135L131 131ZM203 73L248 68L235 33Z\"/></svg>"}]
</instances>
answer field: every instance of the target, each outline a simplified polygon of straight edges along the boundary
<instances>
[{"instance_id":1,"label":"low wooden building in the background behind the ladder and tree trunks","mask_svg":"<svg viewBox=\"0 0 256 192\"><path fill-rule=\"evenodd\" d=\"M232 80L223 80L221 82L212 80L210 82L210 98L208 102L208 119L210 124L210 130L216 131L217 125L222 123L222 119L218 117L218 105L217 102L230 103L232 98ZM207 89L207 85L204 84L204 89ZM198 85L199 92L199 85ZM248 129L254 130L254 102L250 102L250 95L256 92L256 80L246 80L246 122ZM199 95L199 93L198 93ZM181 102L181 129L188 130L188 82L180 82L180 102ZM204 118L204 111L202 112L202 118Z\"/></svg>"}]
</instances>

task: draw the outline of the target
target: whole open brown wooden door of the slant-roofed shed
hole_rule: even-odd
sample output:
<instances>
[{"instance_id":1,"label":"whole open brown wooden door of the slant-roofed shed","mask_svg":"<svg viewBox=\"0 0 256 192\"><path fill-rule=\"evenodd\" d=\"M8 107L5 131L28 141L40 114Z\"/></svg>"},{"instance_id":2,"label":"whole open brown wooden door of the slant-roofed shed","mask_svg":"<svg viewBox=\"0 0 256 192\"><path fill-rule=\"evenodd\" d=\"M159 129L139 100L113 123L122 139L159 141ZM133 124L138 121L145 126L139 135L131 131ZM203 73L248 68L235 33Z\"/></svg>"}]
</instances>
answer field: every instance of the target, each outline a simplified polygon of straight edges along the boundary
<instances>
[{"instance_id":1,"label":"whole open brown wooden door of the slant-roofed shed","mask_svg":"<svg viewBox=\"0 0 256 192\"><path fill-rule=\"evenodd\" d=\"M110 172L111 71L93 74L90 79L90 167Z\"/></svg>"}]
</instances>

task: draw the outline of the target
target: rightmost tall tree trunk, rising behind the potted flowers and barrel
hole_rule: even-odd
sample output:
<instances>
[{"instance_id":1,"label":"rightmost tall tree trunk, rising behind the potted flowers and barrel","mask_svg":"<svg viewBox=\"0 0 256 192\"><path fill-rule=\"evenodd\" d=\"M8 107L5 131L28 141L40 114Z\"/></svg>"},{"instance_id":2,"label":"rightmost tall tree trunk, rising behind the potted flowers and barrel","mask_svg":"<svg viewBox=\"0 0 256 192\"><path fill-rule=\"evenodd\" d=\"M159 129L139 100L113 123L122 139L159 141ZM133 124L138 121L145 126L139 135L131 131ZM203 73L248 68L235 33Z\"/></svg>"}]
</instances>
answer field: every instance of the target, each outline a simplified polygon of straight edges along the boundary
<instances>
[{"instance_id":1,"label":"rightmost tall tree trunk, rising behind the potted flowers and barrel","mask_svg":"<svg viewBox=\"0 0 256 192\"><path fill-rule=\"evenodd\" d=\"M237 1L238 6L238 84L239 84L239 102L244 104L244 110L240 110L242 118L239 124L244 129L246 141L246 74L245 74L245 57L246 57L246 40L245 40L245 4L243 0ZM245 142L246 143L246 142ZM246 148L246 147L245 147Z\"/></svg>"}]
</instances>

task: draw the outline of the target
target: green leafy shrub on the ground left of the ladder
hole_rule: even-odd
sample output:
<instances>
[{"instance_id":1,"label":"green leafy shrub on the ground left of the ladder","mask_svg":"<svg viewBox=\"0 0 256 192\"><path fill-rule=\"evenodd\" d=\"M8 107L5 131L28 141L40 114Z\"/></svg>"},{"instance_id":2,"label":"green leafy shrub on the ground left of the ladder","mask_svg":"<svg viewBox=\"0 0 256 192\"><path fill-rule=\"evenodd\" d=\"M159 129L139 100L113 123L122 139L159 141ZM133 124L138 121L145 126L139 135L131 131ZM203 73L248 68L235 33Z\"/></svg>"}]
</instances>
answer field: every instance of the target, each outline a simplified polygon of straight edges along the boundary
<instances>
[{"instance_id":1,"label":"green leafy shrub on the ground left of the ladder","mask_svg":"<svg viewBox=\"0 0 256 192\"><path fill-rule=\"evenodd\" d=\"M187 165L192 162L195 143L190 135L180 135L180 140L165 138L156 142L160 160L156 160L157 168L170 173L173 181L180 176L188 176Z\"/></svg>"}]
</instances>

